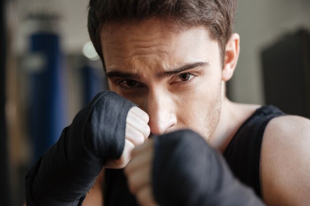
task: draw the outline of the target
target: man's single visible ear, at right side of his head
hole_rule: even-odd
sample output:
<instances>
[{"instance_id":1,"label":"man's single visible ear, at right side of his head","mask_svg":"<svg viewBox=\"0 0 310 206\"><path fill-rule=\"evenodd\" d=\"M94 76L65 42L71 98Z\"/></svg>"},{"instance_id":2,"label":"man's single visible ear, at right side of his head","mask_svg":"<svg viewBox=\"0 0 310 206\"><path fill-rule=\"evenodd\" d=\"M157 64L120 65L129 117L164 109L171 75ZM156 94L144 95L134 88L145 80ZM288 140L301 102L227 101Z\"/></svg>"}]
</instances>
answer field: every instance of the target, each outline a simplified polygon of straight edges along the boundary
<instances>
[{"instance_id":1,"label":"man's single visible ear, at right side of his head","mask_svg":"<svg viewBox=\"0 0 310 206\"><path fill-rule=\"evenodd\" d=\"M222 81L227 82L233 76L240 51L240 36L237 33L231 35L226 44Z\"/></svg>"}]
</instances>

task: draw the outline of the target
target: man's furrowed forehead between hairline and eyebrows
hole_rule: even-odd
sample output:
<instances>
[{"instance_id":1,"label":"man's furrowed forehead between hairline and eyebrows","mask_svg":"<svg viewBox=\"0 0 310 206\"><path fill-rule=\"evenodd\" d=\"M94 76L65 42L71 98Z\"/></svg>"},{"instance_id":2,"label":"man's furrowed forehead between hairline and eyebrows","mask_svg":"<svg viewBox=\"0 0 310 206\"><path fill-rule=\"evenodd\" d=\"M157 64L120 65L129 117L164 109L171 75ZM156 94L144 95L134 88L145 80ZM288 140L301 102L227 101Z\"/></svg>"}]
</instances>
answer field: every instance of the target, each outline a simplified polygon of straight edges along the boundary
<instances>
[{"instance_id":1,"label":"man's furrowed forehead between hairline and eyebrows","mask_svg":"<svg viewBox=\"0 0 310 206\"><path fill-rule=\"evenodd\" d=\"M102 41L106 72L137 74L152 68L157 74L195 62L210 63L207 54L214 54L217 44L204 27L176 32L159 19L110 23L107 29Z\"/></svg>"}]
</instances>

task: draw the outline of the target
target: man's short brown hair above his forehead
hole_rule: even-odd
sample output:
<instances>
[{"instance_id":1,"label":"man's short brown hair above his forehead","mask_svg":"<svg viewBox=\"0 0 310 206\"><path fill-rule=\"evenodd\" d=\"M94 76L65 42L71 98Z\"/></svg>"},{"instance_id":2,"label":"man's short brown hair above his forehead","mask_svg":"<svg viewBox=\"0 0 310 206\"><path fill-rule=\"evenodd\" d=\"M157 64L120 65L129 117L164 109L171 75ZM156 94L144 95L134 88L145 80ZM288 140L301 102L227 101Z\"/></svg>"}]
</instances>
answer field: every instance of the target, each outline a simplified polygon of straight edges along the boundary
<instances>
[{"instance_id":1,"label":"man's short brown hair above his forehead","mask_svg":"<svg viewBox=\"0 0 310 206\"><path fill-rule=\"evenodd\" d=\"M184 26L205 26L211 40L219 44L223 63L236 7L237 0L90 0L88 31L104 66L100 37L108 22L159 17Z\"/></svg>"}]
</instances>

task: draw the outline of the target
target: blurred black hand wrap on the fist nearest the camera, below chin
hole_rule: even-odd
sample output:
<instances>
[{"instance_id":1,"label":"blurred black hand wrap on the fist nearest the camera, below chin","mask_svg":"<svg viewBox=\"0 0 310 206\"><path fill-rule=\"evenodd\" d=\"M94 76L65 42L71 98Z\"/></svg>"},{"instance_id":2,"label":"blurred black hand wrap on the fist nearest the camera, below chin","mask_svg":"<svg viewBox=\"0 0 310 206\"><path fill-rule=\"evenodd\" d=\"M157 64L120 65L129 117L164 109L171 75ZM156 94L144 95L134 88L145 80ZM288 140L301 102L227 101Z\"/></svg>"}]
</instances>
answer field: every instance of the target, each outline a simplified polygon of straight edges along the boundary
<instances>
[{"instance_id":1,"label":"blurred black hand wrap on the fist nearest the camera, below chin","mask_svg":"<svg viewBox=\"0 0 310 206\"><path fill-rule=\"evenodd\" d=\"M160 206L263 206L197 133L155 137L153 189Z\"/></svg>"}]
</instances>

